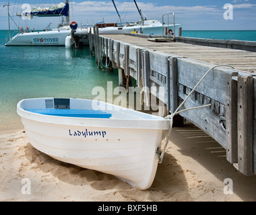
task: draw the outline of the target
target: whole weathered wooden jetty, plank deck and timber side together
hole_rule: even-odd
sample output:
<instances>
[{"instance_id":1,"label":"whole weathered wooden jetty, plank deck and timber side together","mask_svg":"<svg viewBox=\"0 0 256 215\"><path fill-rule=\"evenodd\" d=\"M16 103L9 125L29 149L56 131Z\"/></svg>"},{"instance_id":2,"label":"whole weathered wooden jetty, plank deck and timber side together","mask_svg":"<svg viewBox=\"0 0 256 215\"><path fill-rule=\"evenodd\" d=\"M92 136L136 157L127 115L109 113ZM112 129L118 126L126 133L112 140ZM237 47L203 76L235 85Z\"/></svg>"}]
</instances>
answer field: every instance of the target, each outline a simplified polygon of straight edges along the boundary
<instances>
[{"instance_id":1,"label":"whole weathered wooden jetty, plank deck and timber side together","mask_svg":"<svg viewBox=\"0 0 256 215\"><path fill-rule=\"evenodd\" d=\"M92 32L95 32L94 34ZM137 36L137 35L136 35ZM184 108L211 104L180 114L226 148L227 160L245 175L256 174L256 52L199 46L185 42L152 42L127 35L88 33L90 51L99 67L102 57L119 69L120 83L133 77L173 113L212 66L218 67L200 83ZM181 38L180 38L181 39ZM218 44L216 44L218 46ZM254 50L255 44L247 44ZM227 46L228 47L228 46ZM243 48L242 48L243 49ZM145 95L146 99L148 94ZM179 121L179 119L178 119Z\"/></svg>"}]
</instances>

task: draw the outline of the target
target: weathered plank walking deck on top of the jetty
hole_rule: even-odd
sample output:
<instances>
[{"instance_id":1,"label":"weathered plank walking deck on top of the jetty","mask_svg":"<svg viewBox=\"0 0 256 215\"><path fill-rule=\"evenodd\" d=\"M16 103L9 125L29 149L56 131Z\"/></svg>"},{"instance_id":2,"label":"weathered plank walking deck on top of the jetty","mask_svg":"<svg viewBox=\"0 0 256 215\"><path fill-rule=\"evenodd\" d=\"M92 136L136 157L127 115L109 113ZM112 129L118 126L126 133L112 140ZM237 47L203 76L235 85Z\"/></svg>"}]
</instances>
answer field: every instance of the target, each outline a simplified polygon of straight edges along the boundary
<instances>
[{"instance_id":1,"label":"weathered plank walking deck on top of the jetty","mask_svg":"<svg viewBox=\"0 0 256 215\"><path fill-rule=\"evenodd\" d=\"M237 70L256 74L256 52L199 46L183 42L155 43L148 41L146 38L134 38L122 34L106 34L102 36L112 40L120 40L136 46L142 46L150 50L182 56L183 58L191 58L210 64L230 64Z\"/></svg>"}]
</instances>

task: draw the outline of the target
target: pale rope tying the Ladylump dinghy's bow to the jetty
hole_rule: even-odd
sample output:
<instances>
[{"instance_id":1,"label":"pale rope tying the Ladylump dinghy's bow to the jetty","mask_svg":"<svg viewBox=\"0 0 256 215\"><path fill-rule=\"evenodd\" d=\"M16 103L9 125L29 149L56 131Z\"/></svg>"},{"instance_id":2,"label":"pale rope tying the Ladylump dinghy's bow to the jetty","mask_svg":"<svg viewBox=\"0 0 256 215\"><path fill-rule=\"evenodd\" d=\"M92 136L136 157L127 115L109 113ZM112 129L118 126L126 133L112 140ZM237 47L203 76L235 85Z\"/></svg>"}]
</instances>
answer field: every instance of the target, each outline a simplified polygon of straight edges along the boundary
<instances>
[{"instance_id":1,"label":"pale rope tying the Ladylump dinghy's bow to the jetty","mask_svg":"<svg viewBox=\"0 0 256 215\"><path fill-rule=\"evenodd\" d=\"M170 120L170 128L168 130L168 132L166 132L165 138L164 138L164 148L162 149L162 151L160 150L160 148L158 148L156 150L156 154L158 155L158 163L162 163L162 160L164 158L164 152L166 150L166 147L168 145L169 142L169 137L170 137L170 133L172 132L172 124L173 124L173 118L175 115L177 114L181 114L182 112L187 112L189 110L195 110L195 109L199 109L199 108L203 108L203 107L209 107L211 106L211 104L207 104L207 105L202 105L202 106L197 106L197 107L191 107L191 108L187 108L184 110L181 110L181 107L184 105L184 103L187 101L187 99L189 99L189 97L191 96L191 94L195 91L195 89L198 87L198 85L201 83L201 81L203 81L203 79L205 79L206 75L208 75L208 73L210 73L210 71L212 71L212 69L216 68L216 67L231 67L232 69L234 69L234 67L228 65L228 64L220 64L220 65L216 65L214 67L211 67L206 73L205 75L203 75L203 77L201 77L200 81L198 81L197 85L195 85L195 87L191 90L191 92L189 93L189 95L187 95L187 97L183 100L183 102L181 103L181 105L179 105L179 107L177 107L177 110L175 110L175 112L173 114L170 114L168 116L166 116L166 120Z\"/></svg>"}]
</instances>

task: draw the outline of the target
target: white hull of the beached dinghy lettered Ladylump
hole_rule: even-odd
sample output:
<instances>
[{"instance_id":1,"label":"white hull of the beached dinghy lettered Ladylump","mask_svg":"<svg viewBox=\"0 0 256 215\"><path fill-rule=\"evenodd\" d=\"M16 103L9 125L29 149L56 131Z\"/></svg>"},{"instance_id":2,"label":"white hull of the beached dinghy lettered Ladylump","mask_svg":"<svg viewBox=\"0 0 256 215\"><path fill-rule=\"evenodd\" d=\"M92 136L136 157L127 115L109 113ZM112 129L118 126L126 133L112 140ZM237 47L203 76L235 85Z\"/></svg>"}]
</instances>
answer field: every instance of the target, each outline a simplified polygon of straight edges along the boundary
<instances>
[{"instance_id":1,"label":"white hull of the beached dinghy lettered Ladylump","mask_svg":"<svg viewBox=\"0 0 256 215\"><path fill-rule=\"evenodd\" d=\"M84 99L78 101L83 103ZM85 100L86 108L88 104L90 102ZM136 117L129 120L132 110L128 110L123 120L116 118L113 110L110 111L113 119L71 119L34 114L24 110L24 106L24 100L18 103L18 114L22 116L30 143L42 153L59 161L115 175L139 189L152 185L158 167L156 150L160 148L163 132L168 130L168 120L150 120L148 114L140 116L137 112ZM121 109L122 113L125 111Z\"/></svg>"}]
</instances>

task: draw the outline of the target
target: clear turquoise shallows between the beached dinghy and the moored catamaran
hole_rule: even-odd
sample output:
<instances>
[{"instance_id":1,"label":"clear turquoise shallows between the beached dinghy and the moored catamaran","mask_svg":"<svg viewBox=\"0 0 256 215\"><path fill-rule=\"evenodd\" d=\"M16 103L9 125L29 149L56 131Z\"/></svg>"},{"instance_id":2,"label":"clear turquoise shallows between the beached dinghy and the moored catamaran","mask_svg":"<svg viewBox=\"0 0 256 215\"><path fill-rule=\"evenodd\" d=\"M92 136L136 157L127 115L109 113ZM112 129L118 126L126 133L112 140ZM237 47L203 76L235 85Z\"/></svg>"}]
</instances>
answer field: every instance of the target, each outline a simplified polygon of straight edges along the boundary
<instances>
[{"instance_id":1,"label":"clear turquoise shallows between the beached dinghy and the moored catamaran","mask_svg":"<svg viewBox=\"0 0 256 215\"><path fill-rule=\"evenodd\" d=\"M117 71L98 69L89 48L63 46L4 46L7 31L0 30L0 130L22 128L18 101L33 97L93 99L92 89L118 85Z\"/></svg>"}]
</instances>

